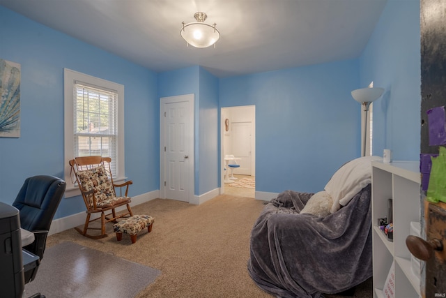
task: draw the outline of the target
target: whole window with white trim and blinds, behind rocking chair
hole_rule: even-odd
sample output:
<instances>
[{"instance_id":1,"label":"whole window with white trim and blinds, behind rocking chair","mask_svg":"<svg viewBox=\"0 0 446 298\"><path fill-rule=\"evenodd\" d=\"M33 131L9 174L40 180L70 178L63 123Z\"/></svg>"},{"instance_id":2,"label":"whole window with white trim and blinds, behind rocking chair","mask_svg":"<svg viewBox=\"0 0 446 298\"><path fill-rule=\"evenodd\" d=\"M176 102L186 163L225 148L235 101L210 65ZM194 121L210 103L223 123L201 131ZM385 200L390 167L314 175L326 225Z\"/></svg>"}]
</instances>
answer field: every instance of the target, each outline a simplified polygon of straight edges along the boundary
<instances>
[{"instance_id":1,"label":"whole window with white trim and blinds, behind rocking chair","mask_svg":"<svg viewBox=\"0 0 446 298\"><path fill-rule=\"evenodd\" d=\"M77 156L109 156L114 180L124 179L124 87L64 70L66 197L78 195L68 161Z\"/></svg>"}]
</instances>

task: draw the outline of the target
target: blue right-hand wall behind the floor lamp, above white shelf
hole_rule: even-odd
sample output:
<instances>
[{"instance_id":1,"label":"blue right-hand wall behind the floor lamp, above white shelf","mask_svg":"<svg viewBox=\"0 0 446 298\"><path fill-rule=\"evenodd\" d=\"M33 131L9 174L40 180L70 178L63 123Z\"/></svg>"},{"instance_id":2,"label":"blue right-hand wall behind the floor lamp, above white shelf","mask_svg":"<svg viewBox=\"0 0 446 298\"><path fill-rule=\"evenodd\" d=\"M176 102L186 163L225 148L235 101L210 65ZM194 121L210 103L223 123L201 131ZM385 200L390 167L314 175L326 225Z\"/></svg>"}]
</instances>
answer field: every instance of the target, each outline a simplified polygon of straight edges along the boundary
<instances>
[{"instance_id":1,"label":"blue right-hand wall behind the floor lamp, above white shelf","mask_svg":"<svg viewBox=\"0 0 446 298\"><path fill-rule=\"evenodd\" d=\"M374 102L374 155L420 158L420 1L388 0L360 57L361 87L374 81L385 93Z\"/></svg>"}]
</instances>

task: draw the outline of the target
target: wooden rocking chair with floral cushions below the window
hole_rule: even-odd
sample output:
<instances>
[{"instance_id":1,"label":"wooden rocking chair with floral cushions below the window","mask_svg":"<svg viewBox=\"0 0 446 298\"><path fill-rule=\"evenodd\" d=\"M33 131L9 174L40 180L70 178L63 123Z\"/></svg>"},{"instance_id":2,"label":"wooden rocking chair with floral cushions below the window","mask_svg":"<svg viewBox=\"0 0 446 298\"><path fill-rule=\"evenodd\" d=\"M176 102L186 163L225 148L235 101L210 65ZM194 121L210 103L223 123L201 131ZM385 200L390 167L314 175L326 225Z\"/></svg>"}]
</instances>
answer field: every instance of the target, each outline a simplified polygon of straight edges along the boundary
<instances>
[{"instance_id":1,"label":"wooden rocking chair with floral cushions below the window","mask_svg":"<svg viewBox=\"0 0 446 298\"><path fill-rule=\"evenodd\" d=\"M77 232L92 239L107 237L105 223L116 223L117 218L133 216L130 209L131 198L127 196L128 186L132 181L123 184L114 184L110 163L112 158L101 156L77 157L69 161L72 174L75 174L77 185L82 193L86 206L86 220L84 230L75 228ZM119 188L119 196L116 196L115 188ZM125 193L122 195L123 188ZM116 214L115 208L127 206L123 214ZM106 211L111 211L105 214ZM91 219L91 215L98 213L100 217ZM100 219L100 228L89 228L89 223ZM99 235L88 234L87 230L100 230Z\"/></svg>"}]
</instances>

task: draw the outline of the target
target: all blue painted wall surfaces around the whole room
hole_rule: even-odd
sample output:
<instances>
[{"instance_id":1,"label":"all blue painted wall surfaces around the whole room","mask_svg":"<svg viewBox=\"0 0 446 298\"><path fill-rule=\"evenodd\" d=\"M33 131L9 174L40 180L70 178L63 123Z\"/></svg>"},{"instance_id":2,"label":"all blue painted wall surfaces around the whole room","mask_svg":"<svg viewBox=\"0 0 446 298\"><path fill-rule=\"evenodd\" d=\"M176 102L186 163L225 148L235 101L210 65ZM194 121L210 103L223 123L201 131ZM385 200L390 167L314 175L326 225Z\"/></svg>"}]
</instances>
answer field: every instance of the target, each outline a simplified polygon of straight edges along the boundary
<instances>
[{"instance_id":1,"label":"all blue painted wall surfaces around the whole room","mask_svg":"<svg viewBox=\"0 0 446 298\"><path fill-rule=\"evenodd\" d=\"M403 3L403 4L402 4ZM0 200L26 177L63 177L63 68L125 86L125 169L130 195L159 189L160 97L195 95L195 195L220 186L220 107L256 105L256 191L321 191L360 156L360 106L371 80L374 154L420 153L420 2L389 0L359 59L217 79L200 66L154 73L0 6L0 58L22 66L22 135L0 138ZM146 161L146 162L145 162ZM64 199L56 218L84 211Z\"/></svg>"}]
</instances>

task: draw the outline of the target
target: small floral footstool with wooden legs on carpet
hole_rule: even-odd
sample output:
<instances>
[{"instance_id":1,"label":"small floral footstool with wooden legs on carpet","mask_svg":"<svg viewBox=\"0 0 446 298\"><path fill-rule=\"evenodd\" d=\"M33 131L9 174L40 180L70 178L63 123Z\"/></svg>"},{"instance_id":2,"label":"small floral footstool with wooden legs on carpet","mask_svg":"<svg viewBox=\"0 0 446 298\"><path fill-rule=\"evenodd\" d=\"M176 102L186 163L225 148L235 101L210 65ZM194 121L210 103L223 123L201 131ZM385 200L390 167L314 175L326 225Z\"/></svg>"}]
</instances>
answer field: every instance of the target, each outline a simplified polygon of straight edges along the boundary
<instances>
[{"instance_id":1,"label":"small floral footstool with wooden legs on carpet","mask_svg":"<svg viewBox=\"0 0 446 298\"><path fill-rule=\"evenodd\" d=\"M119 221L113 225L113 230L116 233L116 239L121 241L123 233L129 234L132 239L132 244L137 241L137 234L141 230L147 228L150 233L152 231L153 222L155 218L148 215L134 215Z\"/></svg>"}]
</instances>

